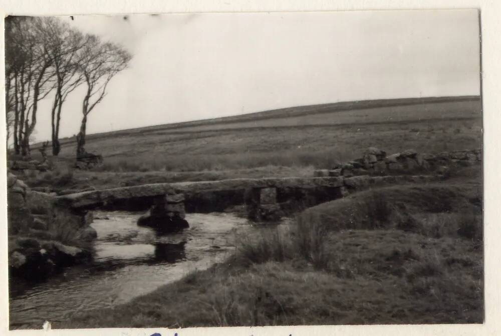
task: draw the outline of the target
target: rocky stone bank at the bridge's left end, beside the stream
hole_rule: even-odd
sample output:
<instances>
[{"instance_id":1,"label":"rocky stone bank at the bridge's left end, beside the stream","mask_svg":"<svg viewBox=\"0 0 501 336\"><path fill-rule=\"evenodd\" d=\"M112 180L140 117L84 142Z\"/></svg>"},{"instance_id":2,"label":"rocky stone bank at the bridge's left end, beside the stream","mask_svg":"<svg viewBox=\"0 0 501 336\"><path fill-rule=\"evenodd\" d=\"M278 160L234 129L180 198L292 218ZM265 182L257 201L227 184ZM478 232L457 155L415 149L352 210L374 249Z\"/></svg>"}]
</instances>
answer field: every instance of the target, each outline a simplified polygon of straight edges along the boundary
<instances>
[{"instance_id":1,"label":"rocky stone bank at the bridge's left end, beside the stream","mask_svg":"<svg viewBox=\"0 0 501 336\"><path fill-rule=\"evenodd\" d=\"M62 267L89 260L91 252L82 246L97 236L91 213L58 205L54 194L30 190L12 172L7 180L12 275L43 280Z\"/></svg>"}]
</instances>

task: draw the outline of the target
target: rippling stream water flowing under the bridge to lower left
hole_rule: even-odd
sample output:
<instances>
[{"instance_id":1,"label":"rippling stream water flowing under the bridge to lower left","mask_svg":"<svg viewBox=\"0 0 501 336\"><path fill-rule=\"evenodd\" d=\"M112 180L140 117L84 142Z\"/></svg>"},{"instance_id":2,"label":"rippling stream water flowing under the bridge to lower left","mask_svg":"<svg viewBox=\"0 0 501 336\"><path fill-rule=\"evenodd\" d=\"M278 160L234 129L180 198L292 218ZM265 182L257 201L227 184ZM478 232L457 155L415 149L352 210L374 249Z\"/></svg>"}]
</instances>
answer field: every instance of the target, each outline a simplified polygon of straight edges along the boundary
<instances>
[{"instance_id":1,"label":"rippling stream water flowing under the bridge to lower left","mask_svg":"<svg viewBox=\"0 0 501 336\"><path fill-rule=\"evenodd\" d=\"M228 237L247 220L228 213L190 213L190 228L158 235L136 225L142 213L95 212L93 262L10 293L11 328L41 328L84 310L113 307L205 269L231 252ZM19 288L18 288L19 287Z\"/></svg>"}]
</instances>

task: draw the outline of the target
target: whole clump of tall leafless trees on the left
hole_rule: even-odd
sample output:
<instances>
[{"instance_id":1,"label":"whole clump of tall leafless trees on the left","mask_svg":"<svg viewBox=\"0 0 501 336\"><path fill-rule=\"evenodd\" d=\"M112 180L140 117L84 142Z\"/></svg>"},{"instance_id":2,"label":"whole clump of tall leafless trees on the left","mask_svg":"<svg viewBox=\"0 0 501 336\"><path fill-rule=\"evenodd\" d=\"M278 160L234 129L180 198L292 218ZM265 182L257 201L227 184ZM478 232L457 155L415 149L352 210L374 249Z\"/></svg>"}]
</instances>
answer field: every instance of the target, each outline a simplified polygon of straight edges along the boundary
<instances>
[{"instance_id":1,"label":"whole clump of tall leafless trees on the left","mask_svg":"<svg viewBox=\"0 0 501 336\"><path fill-rule=\"evenodd\" d=\"M84 155L88 115L106 95L111 78L127 67L131 55L57 17L9 16L5 22L7 139L14 152L30 155L39 101L54 95L52 153L58 155L63 104L72 91L84 85L76 152L77 158Z\"/></svg>"}]
</instances>

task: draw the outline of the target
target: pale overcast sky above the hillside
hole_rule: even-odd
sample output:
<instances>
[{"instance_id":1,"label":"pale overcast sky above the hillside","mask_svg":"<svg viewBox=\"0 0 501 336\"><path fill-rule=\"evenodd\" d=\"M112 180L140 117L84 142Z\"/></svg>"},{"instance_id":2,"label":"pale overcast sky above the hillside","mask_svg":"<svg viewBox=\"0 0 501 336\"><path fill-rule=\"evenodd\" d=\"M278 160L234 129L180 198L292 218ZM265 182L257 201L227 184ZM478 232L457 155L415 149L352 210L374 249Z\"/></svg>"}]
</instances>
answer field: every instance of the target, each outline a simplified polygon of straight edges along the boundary
<instances>
[{"instance_id":1,"label":"pale overcast sky above the hillside","mask_svg":"<svg viewBox=\"0 0 501 336\"><path fill-rule=\"evenodd\" d=\"M88 133L345 100L479 94L476 10L74 16L133 55ZM84 87L63 106L76 134ZM35 138L50 138L50 96Z\"/></svg>"}]
</instances>

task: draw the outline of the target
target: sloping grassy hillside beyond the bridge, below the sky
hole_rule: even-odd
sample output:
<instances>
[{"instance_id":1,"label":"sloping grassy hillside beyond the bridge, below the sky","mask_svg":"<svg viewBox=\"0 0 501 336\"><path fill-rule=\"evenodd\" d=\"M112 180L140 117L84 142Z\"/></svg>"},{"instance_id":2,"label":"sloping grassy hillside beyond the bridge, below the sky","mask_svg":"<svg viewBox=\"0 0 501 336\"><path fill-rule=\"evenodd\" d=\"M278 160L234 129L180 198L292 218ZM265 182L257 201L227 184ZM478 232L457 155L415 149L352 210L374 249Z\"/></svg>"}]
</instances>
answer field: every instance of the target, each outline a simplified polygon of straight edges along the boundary
<instances>
[{"instance_id":1,"label":"sloping grassy hillside beyond the bridge, below the sky","mask_svg":"<svg viewBox=\"0 0 501 336\"><path fill-rule=\"evenodd\" d=\"M63 187L311 176L314 168L360 157L369 146L388 153L472 149L481 146L481 134L476 96L299 106L91 134L86 148L102 154L104 165L73 171ZM67 170L74 155L74 139L63 139L60 156L51 159ZM29 182L45 183L43 176Z\"/></svg>"}]
</instances>

